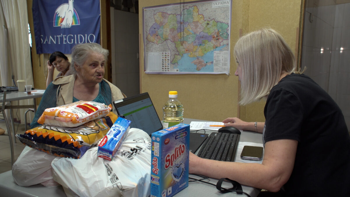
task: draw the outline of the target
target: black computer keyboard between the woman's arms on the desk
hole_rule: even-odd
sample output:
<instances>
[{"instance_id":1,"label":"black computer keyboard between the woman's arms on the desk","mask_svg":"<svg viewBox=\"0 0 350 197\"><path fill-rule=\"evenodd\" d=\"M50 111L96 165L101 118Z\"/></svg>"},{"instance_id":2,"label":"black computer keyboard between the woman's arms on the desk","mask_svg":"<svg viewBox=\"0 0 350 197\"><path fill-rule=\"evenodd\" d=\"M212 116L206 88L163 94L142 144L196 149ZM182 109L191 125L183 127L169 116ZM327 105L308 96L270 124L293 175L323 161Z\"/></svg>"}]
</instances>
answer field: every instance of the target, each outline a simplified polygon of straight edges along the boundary
<instances>
[{"instance_id":1,"label":"black computer keyboard between the woman's arms on the desk","mask_svg":"<svg viewBox=\"0 0 350 197\"><path fill-rule=\"evenodd\" d=\"M239 137L239 134L211 133L203 142L197 156L218 161L234 162Z\"/></svg>"}]
</instances>

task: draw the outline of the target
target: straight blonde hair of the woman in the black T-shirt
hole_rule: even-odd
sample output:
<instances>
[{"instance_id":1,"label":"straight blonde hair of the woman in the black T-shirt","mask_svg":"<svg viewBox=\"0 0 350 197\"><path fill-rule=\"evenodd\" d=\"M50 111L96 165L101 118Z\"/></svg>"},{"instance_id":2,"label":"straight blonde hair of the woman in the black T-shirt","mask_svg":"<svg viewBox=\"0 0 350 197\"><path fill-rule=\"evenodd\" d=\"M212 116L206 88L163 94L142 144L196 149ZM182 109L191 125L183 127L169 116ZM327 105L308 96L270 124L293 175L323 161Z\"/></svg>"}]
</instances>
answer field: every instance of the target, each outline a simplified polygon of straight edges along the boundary
<instances>
[{"instance_id":1,"label":"straight blonde hair of the woman in the black T-shirt","mask_svg":"<svg viewBox=\"0 0 350 197\"><path fill-rule=\"evenodd\" d=\"M296 69L292 50L271 28L242 36L235 45L235 56L242 69L241 105L267 96L279 82L281 73L290 74Z\"/></svg>"}]
</instances>

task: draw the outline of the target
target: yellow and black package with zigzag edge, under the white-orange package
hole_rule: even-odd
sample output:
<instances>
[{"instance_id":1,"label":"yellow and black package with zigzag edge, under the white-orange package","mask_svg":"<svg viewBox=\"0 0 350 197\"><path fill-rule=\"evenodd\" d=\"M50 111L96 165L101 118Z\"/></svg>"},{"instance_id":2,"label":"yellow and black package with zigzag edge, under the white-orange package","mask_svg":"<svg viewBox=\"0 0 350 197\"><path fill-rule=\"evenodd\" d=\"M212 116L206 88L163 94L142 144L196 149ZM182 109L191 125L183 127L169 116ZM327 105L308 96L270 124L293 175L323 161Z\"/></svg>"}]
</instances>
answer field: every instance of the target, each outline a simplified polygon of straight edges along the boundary
<instances>
[{"instance_id":1,"label":"yellow and black package with zigzag edge, under the white-orange package","mask_svg":"<svg viewBox=\"0 0 350 197\"><path fill-rule=\"evenodd\" d=\"M16 137L31 148L59 157L80 158L103 138L118 116L113 112L78 127L57 127L43 124Z\"/></svg>"}]
</instances>

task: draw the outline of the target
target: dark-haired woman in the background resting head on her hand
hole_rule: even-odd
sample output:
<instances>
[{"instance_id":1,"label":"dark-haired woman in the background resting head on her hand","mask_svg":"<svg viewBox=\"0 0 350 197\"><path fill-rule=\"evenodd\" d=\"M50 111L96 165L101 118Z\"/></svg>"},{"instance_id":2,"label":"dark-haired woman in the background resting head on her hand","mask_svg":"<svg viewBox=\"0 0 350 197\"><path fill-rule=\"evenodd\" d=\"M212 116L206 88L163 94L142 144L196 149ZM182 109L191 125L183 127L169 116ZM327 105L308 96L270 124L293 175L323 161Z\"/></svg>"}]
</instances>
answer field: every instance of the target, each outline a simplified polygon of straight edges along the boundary
<instances>
[{"instance_id":1,"label":"dark-haired woman in the background resting head on her hand","mask_svg":"<svg viewBox=\"0 0 350 197\"><path fill-rule=\"evenodd\" d=\"M68 76L71 75L72 72L69 70L70 62L68 61L68 57L65 56L62 52L56 51L50 55L49 60L47 61L48 74L46 79L46 87L54 80L54 70L59 71L59 76Z\"/></svg>"}]
</instances>

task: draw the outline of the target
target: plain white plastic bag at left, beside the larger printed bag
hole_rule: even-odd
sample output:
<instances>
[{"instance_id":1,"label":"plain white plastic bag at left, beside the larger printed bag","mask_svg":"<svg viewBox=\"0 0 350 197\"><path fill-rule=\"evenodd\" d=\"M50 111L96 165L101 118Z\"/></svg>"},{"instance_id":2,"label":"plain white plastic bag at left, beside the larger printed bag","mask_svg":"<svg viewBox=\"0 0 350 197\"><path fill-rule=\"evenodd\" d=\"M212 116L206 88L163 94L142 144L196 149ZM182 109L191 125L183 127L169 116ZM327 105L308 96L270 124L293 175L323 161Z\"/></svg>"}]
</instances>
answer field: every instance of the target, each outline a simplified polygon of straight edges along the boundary
<instances>
[{"instance_id":1,"label":"plain white plastic bag at left, beside the larger printed bag","mask_svg":"<svg viewBox=\"0 0 350 197\"><path fill-rule=\"evenodd\" d=\"M58 186L52 177L51 162L56 156L40 150L25 147L12 165L12 176L20 186L42 184L46 187Z\"/></svg>"}]
</instances>

